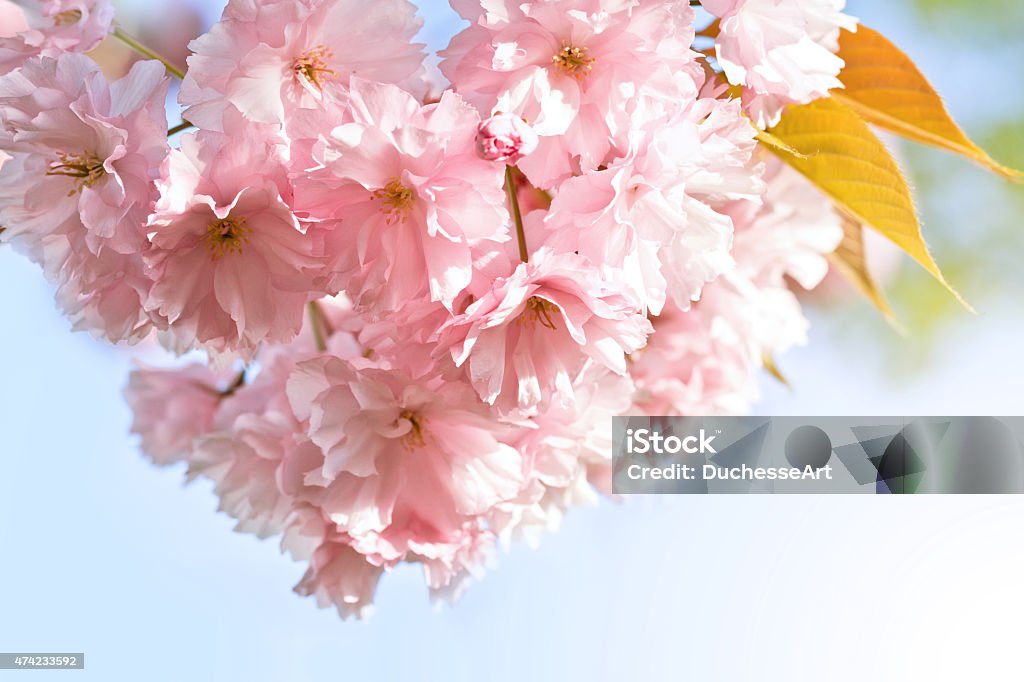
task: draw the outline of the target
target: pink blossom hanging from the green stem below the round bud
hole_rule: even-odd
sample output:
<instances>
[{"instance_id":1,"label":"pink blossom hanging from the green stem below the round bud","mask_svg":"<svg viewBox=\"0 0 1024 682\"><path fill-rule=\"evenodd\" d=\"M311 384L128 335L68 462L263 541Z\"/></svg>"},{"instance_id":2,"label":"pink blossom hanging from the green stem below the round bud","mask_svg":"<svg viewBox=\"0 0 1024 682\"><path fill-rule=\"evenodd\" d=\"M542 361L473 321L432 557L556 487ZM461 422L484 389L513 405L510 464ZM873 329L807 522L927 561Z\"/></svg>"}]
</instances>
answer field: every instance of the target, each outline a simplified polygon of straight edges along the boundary
<instances>
[{"instance_id":1,"label":"pink blossom hanging from the green stem below the round bud","mask_svg":"<svg viewBox=\"0 0 1024 682\"><path fill-rule=\"evenodd\" d=\"M588 361L625 374L650 324L609 268L542 249L439 331L480 397L502 412L570 402Z\"/></svg>"}]
</instances>

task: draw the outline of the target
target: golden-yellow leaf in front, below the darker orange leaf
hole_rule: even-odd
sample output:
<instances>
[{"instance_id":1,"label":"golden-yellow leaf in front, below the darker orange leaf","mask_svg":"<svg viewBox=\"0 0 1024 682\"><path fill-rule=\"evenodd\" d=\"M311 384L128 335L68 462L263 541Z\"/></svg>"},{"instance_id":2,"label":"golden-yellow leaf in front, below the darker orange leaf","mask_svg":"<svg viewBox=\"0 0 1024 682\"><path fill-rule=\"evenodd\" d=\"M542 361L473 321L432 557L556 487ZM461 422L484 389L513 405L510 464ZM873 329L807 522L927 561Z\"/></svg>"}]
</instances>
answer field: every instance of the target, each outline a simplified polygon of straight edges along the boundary
<instances>
[{"instance_id":1,"label":"golden-yellow leaf in front, below the darker orange leaf","mask_svg":"<svg viewBox=\"0 0 1024 682\"><path fill-rule=\"evenodd\" d=\"M850 108L834 98L791 106L769 131L806 158L779 158L860 223L870 225L931 272L968 309L928 252L910 188L885 144Z\"/></svg>"}]
</instances>

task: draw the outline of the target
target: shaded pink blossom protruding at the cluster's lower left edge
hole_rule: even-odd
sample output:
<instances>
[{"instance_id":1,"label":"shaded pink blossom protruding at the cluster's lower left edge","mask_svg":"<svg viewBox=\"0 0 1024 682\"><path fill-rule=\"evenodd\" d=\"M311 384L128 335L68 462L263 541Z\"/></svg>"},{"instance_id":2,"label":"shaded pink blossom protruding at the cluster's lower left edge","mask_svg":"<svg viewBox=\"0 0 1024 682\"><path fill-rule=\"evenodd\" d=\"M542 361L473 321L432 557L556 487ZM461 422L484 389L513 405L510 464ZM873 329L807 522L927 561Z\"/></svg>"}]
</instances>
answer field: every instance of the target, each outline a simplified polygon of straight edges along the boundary
<instances>
[{"instance_id":1,"label":"shaded pink blossom protruding at the cluster's lower left edge","mask_svg":"<svg viewBox=\"0 0 1024 682\"><path fill-rule=\"evenodd\" d=\"M231 388L205 365L132 372L125 399L142 452L161 466L186 459L193 440L213 430L217 409Z\"/></svg>"}]
</instances>

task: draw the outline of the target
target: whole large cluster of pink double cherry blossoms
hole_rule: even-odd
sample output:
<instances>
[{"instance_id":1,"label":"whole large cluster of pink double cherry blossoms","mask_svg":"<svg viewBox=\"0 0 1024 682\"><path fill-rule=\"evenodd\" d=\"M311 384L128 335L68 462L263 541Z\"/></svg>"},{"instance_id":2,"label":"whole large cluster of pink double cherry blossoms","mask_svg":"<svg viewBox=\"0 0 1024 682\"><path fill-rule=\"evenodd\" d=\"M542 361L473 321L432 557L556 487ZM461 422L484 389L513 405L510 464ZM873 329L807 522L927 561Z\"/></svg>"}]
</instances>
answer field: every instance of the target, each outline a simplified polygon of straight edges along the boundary
<instances>
[{"instance_id":1,"label":"whole large cluster of pink double cherry blossoms","mask_svg":"<svg viewBox=\"0 0 1024 682\"><path fill-rule=\"evenodd\" d=\"M0 3L0 240L188 355L130 379L142 449L343 616L607 492L612 416L749 410L842 238L756 136L838 85L843 0L452 0L439 74L406 0L230 0L171 141L164 65L85 54L106 0Z\"/></svg>"}]
</instances>

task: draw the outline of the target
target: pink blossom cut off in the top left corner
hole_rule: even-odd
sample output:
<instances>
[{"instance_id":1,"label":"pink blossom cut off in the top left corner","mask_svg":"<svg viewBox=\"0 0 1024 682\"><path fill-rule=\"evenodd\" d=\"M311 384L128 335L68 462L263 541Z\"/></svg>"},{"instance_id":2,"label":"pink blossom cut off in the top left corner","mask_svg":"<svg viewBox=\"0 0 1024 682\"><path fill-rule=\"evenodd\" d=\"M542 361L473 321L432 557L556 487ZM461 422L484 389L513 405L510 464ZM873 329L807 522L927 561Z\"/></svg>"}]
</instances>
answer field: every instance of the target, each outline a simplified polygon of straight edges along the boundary
<instances>
[{"instance_id":1,"label":"pink blossom cut off in the top left corner","mask_svg":"<svg viewBox=\"0 0 1024 682\"><path fill-rule=\"evenodd\" d=\"M24 13L6 0L0 6L0 75L19 69L34 56L88 52L111 32L110 0L28 0ZM8 22L11 22L8 28Z\"/></svg>"}]
</instances>

